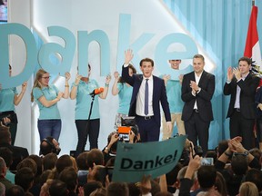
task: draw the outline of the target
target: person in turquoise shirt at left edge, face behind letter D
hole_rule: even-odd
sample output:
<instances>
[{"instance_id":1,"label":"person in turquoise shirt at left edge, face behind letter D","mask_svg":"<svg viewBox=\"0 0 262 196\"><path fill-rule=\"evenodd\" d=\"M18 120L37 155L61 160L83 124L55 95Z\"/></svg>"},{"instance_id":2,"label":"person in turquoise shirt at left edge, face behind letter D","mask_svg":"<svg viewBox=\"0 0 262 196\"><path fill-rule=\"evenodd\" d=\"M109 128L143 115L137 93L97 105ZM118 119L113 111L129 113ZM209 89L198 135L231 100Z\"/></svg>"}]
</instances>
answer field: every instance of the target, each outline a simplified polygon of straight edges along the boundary
<instances>
[{"instance_id":1,"label":"person in turquoise shirt at left edge, face behind letter D","mask_svg":"<svg viewBox=\"0 0 262 196\"><path fill-rule=\"evenodd\" d=\"M9 75L12 75L12 67L9 64ZM16 87L1 89L0 86L0 120L8 117L11 122L9 124L9 130L11 132L12 145L15 143L15 136L17 131L17 116L15 113L15 105L18 105L26 90L27 83L22 84L21 93L17 93Z\"/></svg>"}]
</instances>

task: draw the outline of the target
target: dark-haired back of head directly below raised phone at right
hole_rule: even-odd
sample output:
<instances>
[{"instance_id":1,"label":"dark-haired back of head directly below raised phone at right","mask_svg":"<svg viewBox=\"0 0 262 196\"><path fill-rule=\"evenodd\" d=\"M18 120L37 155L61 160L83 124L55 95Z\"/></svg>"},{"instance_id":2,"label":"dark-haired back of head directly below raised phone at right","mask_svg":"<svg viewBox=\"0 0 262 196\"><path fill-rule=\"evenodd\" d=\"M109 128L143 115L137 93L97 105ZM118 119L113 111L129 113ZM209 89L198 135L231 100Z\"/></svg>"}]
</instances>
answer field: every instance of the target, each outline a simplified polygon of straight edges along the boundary
<instances>
[{"instance_id":1,"label":"dark-haired back of head directly below raised phone at right","mask_svg":"<svg viewBox=\"0 0 262 196\"><path fill-rule=\"evenodd\" d=\"M216 178L217 170L213 165L201 165L197 171L197 181L204 191L215 185Z\"/></svg>"}]
</instances>

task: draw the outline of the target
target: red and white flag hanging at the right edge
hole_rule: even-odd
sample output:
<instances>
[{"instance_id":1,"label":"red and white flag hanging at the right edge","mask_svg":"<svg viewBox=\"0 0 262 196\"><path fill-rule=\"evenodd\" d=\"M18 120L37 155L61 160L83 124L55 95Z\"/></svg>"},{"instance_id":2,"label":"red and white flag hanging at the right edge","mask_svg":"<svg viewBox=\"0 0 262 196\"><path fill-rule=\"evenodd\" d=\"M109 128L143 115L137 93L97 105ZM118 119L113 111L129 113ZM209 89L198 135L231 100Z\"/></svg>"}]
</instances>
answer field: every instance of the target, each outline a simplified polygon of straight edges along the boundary
<instances>
[{"instance_id":1,"label":"red and white flag hanging at the right edge","mask_svg":"<svg viewBox=\"0 0 262 196\"><path fill-rule=\"evenodd\" d=\"M255 5L252 7L249 19L244 56L252 58L252 64L256 65L257 71L262 71L261 53L257 33L257 6Z\"/></svg>"}]
</instances>

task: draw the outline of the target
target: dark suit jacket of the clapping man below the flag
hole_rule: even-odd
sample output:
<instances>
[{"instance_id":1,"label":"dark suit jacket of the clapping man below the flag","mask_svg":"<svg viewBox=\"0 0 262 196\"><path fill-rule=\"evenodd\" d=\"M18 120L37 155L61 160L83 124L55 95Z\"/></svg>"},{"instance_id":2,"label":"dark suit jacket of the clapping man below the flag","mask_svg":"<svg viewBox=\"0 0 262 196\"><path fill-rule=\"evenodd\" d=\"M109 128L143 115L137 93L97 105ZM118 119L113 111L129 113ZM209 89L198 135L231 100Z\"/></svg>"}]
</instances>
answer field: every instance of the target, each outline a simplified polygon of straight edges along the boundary
<instances>
[{"instance_id":1,"label":"dark suit jacket of the clapping man below the flag","mask_svg":"<svg viewBox=\"0 0 262 196\"><path fill-rule=\"evenodd\" d=\"M247 119L255 119L255 93L259 83L259 78L252 73L248 73L245 81L240 80L237 83L237 79L234 77L231 83L225 83L224 94L231 94L229 108L227 112L227 118L231 117L234 113L234 104L237 96L237 85L241 88L240 92L240 113Z\"/></svg>"}]
</instances>

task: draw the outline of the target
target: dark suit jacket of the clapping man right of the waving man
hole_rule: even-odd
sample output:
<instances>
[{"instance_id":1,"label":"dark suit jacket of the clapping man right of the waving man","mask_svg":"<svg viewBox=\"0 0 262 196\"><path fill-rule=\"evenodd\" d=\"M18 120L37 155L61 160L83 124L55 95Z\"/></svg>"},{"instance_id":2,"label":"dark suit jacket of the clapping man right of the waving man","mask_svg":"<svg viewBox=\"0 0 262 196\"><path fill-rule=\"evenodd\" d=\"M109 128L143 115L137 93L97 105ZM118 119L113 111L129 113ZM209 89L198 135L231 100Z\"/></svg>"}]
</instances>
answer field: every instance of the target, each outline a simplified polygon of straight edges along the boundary
<instances>
[{"instance_id":1,"label":"dark suit jacket of the clapping man right of the waving man","mask_svg":"<svg viewBox=\"0 0 262 196\"><path fill-rule=\"evenodd\" d=\"M187 121L190 119L196 102L201 119L205 122L213 121L211 99L215 91L215 75L203 71L198 83L201 91L196 93L196 96L192 94L190 81L196 82L195 72L187 73L183 77L181 98L185 105L182 112L182 120Z\"/></svg>"}]
</instances>

